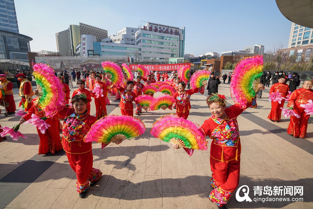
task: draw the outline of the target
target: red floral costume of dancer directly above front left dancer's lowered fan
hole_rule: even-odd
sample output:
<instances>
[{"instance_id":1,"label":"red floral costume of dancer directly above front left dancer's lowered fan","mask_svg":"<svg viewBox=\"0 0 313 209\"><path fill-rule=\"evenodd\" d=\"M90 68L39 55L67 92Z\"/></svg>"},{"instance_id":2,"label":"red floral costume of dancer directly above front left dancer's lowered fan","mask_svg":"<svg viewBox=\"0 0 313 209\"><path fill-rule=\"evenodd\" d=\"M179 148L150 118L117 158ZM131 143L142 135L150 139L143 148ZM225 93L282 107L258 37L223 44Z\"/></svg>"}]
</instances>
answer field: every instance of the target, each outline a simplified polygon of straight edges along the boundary
<instances>
[{"instance_id":1,"label":"red floral costume of dancer directly above front left dancer's lowered fan","mask_svg":"<svg viewBox=\"0 0 313 209\"><path fill-rule=\"evenodd\" d=\"M133 101L137 97L133 91L127 91L127 89L120 87L118 90L121 92L121 113L122 115L134 116Z\"/></svg>"}]
</instances>

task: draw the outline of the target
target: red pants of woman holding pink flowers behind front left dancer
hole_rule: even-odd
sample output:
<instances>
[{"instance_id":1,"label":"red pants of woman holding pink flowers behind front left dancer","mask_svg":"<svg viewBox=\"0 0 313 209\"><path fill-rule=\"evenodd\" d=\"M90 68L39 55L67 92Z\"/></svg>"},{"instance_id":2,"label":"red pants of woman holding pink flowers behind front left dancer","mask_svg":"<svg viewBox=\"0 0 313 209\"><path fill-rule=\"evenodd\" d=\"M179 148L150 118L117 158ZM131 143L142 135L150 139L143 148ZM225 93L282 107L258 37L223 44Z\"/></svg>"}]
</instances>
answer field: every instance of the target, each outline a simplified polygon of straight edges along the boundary
<instances>
[{"instance_id":1,"label":"red pants of woman holding pink flowers behind front left dancer","mask_svg":"<svg viewBox=\"0 0 313 209\"><path fill-rule=\"evenodd\" d=\"M55 152L63 149L61 138L59 134L59 120L51 120L47 119L46 123L50 125L50 127L46 130L46 133L41 133L37 128L37 132L39 135L39 149L38 154L55 154Z\"/></svg>"}]
</instances>

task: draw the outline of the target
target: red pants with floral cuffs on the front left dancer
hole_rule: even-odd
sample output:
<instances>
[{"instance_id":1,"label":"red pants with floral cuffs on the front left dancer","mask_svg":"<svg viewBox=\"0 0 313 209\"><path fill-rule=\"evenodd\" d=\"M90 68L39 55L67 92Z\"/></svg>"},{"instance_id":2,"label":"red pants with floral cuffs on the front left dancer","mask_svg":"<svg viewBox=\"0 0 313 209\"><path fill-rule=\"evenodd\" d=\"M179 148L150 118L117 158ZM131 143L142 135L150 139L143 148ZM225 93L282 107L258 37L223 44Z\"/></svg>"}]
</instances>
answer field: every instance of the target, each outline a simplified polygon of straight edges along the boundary
<instances>
[{"instance_id":1,"label":"red pants with floral cuffs on the front left dancer","mask_svg":"<svg viewBox=\"0 0 313 209\"><path fill-rule=\"evenodd\" d=\"M96 181L102 175L99 169L92 167L92 150L83 154L66 153L69 165L75 171L77 176L77 191L79 193L86 191L89 181Z\"/></svg>"}]
</instances>

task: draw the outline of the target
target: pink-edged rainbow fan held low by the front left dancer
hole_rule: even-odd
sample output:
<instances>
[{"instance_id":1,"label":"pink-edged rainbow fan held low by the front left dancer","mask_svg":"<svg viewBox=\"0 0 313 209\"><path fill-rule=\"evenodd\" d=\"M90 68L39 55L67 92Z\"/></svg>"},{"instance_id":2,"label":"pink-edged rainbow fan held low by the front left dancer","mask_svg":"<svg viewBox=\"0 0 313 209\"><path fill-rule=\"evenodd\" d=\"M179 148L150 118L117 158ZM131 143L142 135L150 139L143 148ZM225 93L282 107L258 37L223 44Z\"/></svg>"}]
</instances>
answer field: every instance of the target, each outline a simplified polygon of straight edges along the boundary
<instances>
[{"instance_id":1,"label":"pink-edged rainbow fan held low by the front left dancer","mask_svg":"<svg viewBox=\"0 0 313 209\"><path fill-rule=\"evenodd\" d=\"M86 134L85 142L108 144L145 133L142 121L132 116L108 115L97 120Z\"/></svg>"}]
</instances>

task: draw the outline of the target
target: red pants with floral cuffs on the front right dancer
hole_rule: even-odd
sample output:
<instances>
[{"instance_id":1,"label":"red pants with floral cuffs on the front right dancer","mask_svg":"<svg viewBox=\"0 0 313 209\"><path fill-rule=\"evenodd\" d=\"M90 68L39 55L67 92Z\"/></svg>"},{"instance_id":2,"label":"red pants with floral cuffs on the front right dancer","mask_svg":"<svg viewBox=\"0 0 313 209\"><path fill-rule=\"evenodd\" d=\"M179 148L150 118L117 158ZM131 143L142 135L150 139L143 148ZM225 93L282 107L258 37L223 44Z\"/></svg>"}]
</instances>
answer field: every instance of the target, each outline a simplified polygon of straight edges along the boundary
<instances>
[{"instance_id":1,"label":"red pants with floral cuffs on the front right dancer","mask_svg":"<svg viewBox=\"0 0 313 209\"><path fill-rule=\"evenodd\" d=\"M210 157L210 165L213 172L211 178L213 190L209 199L216 205L223 206L239 185L240 156L238 156L238 161L231 160L228 162L221 162Z\"/></svg>"}]
</instances>

